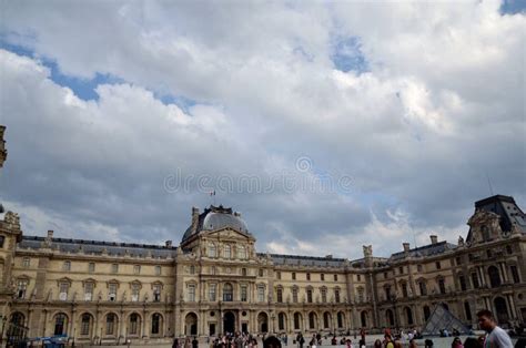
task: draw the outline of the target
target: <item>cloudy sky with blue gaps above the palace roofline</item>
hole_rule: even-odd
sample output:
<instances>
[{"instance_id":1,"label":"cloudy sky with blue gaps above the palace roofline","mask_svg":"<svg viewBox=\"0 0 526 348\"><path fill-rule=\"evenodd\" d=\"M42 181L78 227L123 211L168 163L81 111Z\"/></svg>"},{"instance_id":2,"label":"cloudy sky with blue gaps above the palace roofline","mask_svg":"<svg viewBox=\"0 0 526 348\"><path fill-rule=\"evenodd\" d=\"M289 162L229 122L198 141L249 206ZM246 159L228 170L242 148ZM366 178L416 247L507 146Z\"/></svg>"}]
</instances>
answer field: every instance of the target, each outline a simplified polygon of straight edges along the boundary
<instances>
[{"instance_id":1,"label":"cloudy sky with blue gaps above the palace roofline","mask_svg":"<svg viewBox=\"0 0 526 348\"><path fill-rule=\"evenodd\" d=\"M0 3L27 235L179 243L215 199L260 252L355 258L526 208L519 1Z\"/></svg>"}]
</instances>

